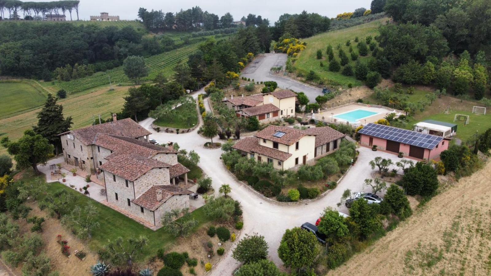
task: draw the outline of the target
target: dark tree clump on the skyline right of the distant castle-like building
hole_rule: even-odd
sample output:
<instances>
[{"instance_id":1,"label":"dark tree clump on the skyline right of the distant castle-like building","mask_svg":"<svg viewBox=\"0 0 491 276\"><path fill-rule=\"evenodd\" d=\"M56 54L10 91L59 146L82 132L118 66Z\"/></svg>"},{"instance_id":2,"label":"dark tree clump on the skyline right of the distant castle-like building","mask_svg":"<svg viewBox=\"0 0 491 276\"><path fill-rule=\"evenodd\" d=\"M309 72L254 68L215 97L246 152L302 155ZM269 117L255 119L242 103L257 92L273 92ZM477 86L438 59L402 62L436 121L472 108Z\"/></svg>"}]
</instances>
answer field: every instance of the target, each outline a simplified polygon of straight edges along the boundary
<instances>
[{"instance_id":1,"label":"dark tree clump on the skyline right of the distant castle-like building","mask_svg":"<svg viewBox=\"0 0 491 276\"><path fill-rule=\"evenodd\" d=\"M214 13L204 11L195 6L179 12L163 12L162 10L148 11L146 8L138 9L138 18L146 28L152 31L190 31L197 29L214 30L218 28L231 28L234 18L227 12L218 17Z\"/></svg>"}]
</instances>

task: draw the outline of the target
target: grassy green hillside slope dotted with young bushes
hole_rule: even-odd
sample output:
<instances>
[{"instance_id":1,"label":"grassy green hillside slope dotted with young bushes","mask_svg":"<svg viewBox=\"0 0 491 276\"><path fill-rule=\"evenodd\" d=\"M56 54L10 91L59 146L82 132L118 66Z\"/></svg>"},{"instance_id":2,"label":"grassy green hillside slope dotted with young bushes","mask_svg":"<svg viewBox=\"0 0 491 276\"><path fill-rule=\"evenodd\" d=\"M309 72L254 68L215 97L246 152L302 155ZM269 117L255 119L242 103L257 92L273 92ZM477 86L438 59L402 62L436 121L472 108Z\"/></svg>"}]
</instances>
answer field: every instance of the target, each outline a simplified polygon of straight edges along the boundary
<instances>
[{"instance_id":1,"label":"grassy green hillside slope dotted with young bushes","mask_svg":"<svg viewBox=\"0 0 491 276\"><path fill-rule=\"evenodd\" d=\"M353 86L360 86L363 83L355 79L355 77L344 76L341 74L342 69L339 72L330 72L328 71L329 61L326 56L327 45L332 45L334 50L334 57L339 62L339 55L337 46L341 44L341 48L345 51L345 53L350 57L350 64L352 66L355 65L355 61L351 60L350 52L348 51L349 47L346 46L346 41L351 40L351 46L353 50L358 53L358 49L356 48L355 37L357 36L360 40L364 39L367 35L371 35L375 37L379 34L378 28L384 22L386 18L372 21L370 23L358 25L351 28L345 28L336 31L329 31L325 33L321 33L309 38L304 39L303 41L307 43L307 47L303 52L300 53L298 60L295 62L295 68L298 72L301 72L303 75L306 75L310 70L315 71L321 76L322 79L327 80L326 83L334 83L339 84L344 87L347 87L349 83L352 83ZM374 41L373 39L372 41ZM324 66L321 67L319 59L317 59L317 50L321 49L323 53L322 62ZM358 60L364 60L370 56L358 56Z\"/></svg>"}]
</instances>

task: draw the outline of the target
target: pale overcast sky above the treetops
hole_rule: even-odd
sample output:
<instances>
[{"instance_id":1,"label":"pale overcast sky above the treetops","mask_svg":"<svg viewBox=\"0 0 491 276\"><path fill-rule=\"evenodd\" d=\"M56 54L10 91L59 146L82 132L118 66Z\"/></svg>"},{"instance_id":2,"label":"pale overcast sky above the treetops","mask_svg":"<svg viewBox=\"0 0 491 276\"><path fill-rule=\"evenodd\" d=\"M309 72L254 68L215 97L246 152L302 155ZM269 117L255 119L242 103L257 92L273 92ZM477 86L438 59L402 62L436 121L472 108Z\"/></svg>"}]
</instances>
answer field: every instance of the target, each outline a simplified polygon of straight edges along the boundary
<instances>
[{"instance_id":1,"label":"pale overcast sky above the treetops","mask_svg":"<svg viewBox=\"0 0 491 276\"><path fill-rule=\"evenodd\" d=\"M34 0L41 2L41 0ZM273 24L284 13L300 13L302 10L315 12L329 18L343 12L354 11L356 8L370 8L371 0L80 0L79 17L89 20L91 15L108 12L109 15L119 15L121 20L137 18L139 7L147 10L162 10L177 12L200 6L203 11L215 13L221 17L230 12L234 21L252 13L268 18ZM75 11L73 12L75 15Z\"/></svg>"}]
</instances>

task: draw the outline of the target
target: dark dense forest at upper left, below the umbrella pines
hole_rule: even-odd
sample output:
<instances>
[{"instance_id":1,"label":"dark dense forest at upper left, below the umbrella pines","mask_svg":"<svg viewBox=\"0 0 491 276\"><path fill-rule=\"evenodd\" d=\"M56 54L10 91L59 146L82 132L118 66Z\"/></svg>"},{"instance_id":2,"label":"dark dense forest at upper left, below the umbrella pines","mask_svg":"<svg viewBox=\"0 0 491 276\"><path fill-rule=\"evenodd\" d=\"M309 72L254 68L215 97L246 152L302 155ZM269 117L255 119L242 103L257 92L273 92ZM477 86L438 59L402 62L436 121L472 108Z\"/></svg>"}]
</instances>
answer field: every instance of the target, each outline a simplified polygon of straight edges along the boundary
<instances>
[{"instance_id":1,"label":"dark dense forest at upper left, below the umbrella pines","mask_svg":"<svg viewBox=\"0 0 491 276\"><path fill-rule=\"evenodd\" d=\"M10 76L51 80L53 70L66 64L123 60L141 52L141 34L132 27L9 22L0 24L0 33L0 71Z\"/></svg>"}]
</instances>

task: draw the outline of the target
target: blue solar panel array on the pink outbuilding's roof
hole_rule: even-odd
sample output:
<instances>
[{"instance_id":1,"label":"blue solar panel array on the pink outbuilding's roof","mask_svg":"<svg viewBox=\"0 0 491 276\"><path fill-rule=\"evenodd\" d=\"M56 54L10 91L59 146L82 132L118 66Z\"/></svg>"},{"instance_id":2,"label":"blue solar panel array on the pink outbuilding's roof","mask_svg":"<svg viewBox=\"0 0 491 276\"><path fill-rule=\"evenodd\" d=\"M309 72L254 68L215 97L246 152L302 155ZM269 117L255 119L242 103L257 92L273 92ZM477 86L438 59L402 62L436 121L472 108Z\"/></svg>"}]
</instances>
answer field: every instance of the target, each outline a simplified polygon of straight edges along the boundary
<instances>
[{"instance_id":1,"label":"blue solar panel array on the pink outbuilding's roof","mask_svg":"<svg viewBox=\"0 0 491 276\"><path fill-rule=\"evenodd\" d=\"M436 145L443 140L443 137L435 135L374 123L367 124L361 130L359 130L358 133L427 149L434 149Z\"/></svg>"}]
</instances>

